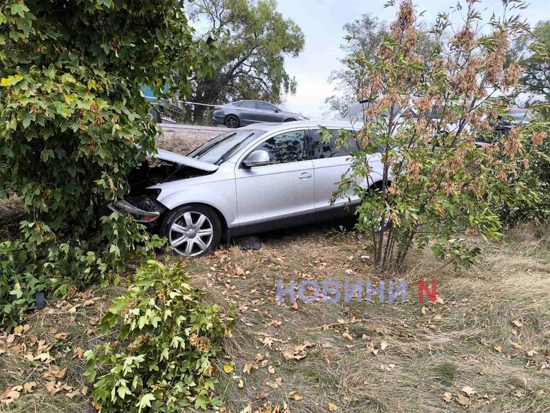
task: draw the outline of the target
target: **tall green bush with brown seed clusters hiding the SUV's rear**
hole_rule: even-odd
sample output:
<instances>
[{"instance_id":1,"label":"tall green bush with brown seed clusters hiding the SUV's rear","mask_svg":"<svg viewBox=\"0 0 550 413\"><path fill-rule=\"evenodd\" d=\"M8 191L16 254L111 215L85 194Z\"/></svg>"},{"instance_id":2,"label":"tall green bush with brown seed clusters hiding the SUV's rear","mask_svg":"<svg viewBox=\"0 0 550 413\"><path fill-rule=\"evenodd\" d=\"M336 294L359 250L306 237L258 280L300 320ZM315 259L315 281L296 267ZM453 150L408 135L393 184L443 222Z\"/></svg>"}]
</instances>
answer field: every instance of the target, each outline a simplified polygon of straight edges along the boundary
<instances>
[{"instance_id":1,"label":"tall green bush with brown seed clusters hiding the SUV's rear","mask_svg":"<svg viewBox=\"0 0 550 413\"><path fill-rule=\"evenodd\" d=\"M358 56L354 62L366 73L362 98L369 103L359 132L364 145L334 196L353 192L362 199L358 229L371 236L380 266L400 266L414 243L469 266L481 249L466 237L498 239L496 206L517 204L531 192L525 171L548 123L536 118L485 149L475 145L493 142L491 125L514 97L521 68L505 67L505 54L509 40L528 28L509 14L525 4L503 1L505 17L492 17L481 35L476 2L464 3L457 7L461 28L439 15L429 59L415 52L415 8L404 0L375 59ZM339 134L342 145L347 139ZM381 161L382 184L363 178L373 177L373 159Z\"/></svg>"}]
</instances>

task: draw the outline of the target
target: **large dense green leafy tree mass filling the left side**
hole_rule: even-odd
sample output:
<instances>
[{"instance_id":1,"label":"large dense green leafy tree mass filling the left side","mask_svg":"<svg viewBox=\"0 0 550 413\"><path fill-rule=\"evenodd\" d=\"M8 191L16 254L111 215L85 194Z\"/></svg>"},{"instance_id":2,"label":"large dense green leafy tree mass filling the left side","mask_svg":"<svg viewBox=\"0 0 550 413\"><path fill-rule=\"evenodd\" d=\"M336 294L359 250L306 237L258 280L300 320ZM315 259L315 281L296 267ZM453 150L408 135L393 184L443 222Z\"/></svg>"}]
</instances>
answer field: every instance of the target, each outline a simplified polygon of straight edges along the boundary
<instances>
[{"instance_id":1,"label":"large dense green leafy tree mass filling the left side","mask_svg":"<svg viewBox=\"0 0 550 413\"><path fill-rule=\"evenodd\" d=\"M23 198L19 239L0 244L0 322L37 291L64 295L159 245L101 217L155 148L140 93L188 74L212 43L192 39L179 0L0 3L0 198ZM184 92L188 83L179 83ZM141 149L137 147L139 145Z\"/></svg>"}]
</instances>

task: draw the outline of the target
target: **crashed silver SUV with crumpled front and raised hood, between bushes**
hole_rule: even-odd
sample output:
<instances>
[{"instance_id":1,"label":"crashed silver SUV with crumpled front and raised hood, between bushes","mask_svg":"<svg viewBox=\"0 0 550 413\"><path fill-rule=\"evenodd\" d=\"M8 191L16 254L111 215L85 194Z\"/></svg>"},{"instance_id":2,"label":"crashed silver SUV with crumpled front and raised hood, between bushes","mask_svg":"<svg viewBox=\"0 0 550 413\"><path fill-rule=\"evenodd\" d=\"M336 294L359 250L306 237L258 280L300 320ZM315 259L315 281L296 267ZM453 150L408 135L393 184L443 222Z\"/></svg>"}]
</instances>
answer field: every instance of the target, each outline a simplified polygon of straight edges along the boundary
<instances>
[{"instance_id":1,"label":"crashed silver SUV with crumpled front and raised hood, between bushes","mask_svg":"<svg viewBox=\"0 0 550 413\"><path fill-rule=\"evenodd\" d=\"M333 132L327 145L320 143L320 125ZM344 149L334 140L339 129L360 127L265 123L217 136L187 156L159 150L154 163L133 169L129 196L110 207L155 222L175 251L188 256L208 253L222 239L350 215L357 196L330 199L360 142L351 136ZM371 176L360 183L380 186L380 154L369 163Z\"/></svg>"}]
</instances>

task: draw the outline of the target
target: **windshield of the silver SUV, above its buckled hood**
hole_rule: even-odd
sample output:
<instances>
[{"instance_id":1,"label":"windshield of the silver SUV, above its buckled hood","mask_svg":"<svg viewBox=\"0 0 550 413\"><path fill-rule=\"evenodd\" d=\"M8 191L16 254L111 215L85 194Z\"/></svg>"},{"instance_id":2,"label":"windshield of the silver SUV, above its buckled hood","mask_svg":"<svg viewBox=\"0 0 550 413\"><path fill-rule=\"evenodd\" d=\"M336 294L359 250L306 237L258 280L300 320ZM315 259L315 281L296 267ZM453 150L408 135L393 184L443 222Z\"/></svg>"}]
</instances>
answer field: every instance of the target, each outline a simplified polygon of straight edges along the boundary
<instances>
[{"instance_id":1,"label":"windshield of the silver SUV, above its buckled hood","mask_svg":"<svg viewBox=\"0 0 550 413\"><path fill-rule=\"evenodd\" d=\"M188 153L187 156L204 162L219 164L235 153L243 143L250 142L263 134L265 134L265 131L252 129L230 131L209 140L194 151Z\"/></svg>"}]
</instances>

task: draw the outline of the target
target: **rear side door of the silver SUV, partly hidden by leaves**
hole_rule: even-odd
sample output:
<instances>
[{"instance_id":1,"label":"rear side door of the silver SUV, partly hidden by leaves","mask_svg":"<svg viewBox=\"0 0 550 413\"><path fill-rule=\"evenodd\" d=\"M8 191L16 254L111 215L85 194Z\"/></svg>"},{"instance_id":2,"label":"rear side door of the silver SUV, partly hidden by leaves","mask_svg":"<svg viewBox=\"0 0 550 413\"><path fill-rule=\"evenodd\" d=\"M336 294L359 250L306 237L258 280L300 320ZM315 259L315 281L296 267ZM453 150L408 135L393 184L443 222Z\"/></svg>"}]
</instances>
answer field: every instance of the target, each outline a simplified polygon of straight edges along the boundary
<instances>
[{"instance_id":1,"label":"rear side door of the silver SUV, partly hidden by leaves","mask_svg":"<svg viewBox=\"0 0 550 413\"><path fill-rule=\"evenodd\" d=\"M334 204L331 204L334 191L338 189L342 176L347 173L351 165L351 153L360 148L360 142L352 134L348 140L349 147L347 149L342 146L338 147L336 145L338 129L329 129L329 131L331 132L331 141L322 144L319 129L309 129L314 145L315 211L318 221L350 215L353 213L353 204L358 204L360 201L358 195L349 191L346 197L340 197L335 200ZM375 161L375 158L372 160Z\"/></svg>"}]
</instances>

